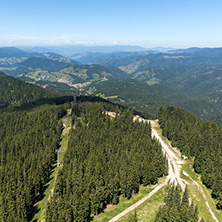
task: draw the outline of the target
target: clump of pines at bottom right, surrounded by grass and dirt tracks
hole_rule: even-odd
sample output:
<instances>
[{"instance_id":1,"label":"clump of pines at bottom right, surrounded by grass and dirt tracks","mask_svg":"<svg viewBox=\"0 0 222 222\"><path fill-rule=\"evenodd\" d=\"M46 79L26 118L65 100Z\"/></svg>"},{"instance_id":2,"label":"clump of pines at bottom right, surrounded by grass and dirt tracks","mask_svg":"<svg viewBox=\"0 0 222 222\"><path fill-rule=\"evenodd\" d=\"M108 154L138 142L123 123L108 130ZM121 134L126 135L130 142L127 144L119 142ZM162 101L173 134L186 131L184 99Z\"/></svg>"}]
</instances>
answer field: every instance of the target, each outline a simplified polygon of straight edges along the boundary
<instances>
[{"instance_id":1,"label":"clump of pines at bottom right, surrounded by grass and dirt tracks","mask_svg":"<svg viewBox=\"0 0 222 222\"><path fill-rule=\"evenodd\" d=\"M155 222L198 222L198 208L189 201L189 191L186 187L182 193L179 185L168 184L165 205L161 206L156 214ZM201 222L204 222L202 219Z\"/></svg>"}]
</instances>

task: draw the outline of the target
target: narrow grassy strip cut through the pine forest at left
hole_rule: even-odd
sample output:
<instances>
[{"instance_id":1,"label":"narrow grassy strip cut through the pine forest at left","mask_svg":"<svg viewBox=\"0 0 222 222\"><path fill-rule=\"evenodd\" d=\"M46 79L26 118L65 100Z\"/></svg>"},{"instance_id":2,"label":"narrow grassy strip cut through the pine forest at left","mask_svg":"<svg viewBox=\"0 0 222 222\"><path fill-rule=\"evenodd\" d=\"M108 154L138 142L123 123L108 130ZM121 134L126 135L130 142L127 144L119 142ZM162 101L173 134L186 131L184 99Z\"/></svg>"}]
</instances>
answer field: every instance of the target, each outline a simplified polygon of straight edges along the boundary
<instances>
[{"instance_id":1,"label":"narrow grassy strip cut through the pine forest at left","mask_svg":"<svg viewBox=\"0 0 222 222\"><path fill-rule=\"evenodd\" d=\"M68 119L67 126L69 126L70 125L70 121L69 121L70 118L66 116L65 118L63 118L63 122L64 122L64 119ZM53 170L51 172L49 182L47 184L45 184L46 189L43 194L43 198L38 203L36 203L36 207L38 209L38 212L35 214L33 221L41 221L41 222L45 221L47 202L48 202L48 200L53 192L53 189L55 187L56 178L57 178L59 169L63 166L63 158L64 158L64 154L67 150L67 147L68 147L68 141L69 141L69 134L62 135L62 140L60 142L61 152L59 153L60 166L57 167L57 162L53 165Z\"/></svg>"}]
</instances>

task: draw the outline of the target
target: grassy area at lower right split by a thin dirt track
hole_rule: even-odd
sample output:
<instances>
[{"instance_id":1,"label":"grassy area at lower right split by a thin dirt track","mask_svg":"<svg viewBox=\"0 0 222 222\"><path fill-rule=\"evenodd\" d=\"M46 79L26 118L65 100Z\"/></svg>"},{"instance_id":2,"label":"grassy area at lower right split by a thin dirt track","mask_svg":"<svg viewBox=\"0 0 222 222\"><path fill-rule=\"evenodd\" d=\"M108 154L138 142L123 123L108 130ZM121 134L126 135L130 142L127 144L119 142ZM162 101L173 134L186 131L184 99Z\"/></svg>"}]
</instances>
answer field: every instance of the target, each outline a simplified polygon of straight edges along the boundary
<instances>
[{"instance_id":1,"label":"grassy area at lower right split by a thin dirt track","mask_svg":"<svg viewBox=\"0 0 222 222\"><path fill-rule=\"evenodd\" d=\"M193 166L193 160L188 160L186 161L186 164L182 165L183 170L189 174L189 176L195 180L203 189L206 199L216 215L217 219L219 221L222 221L222 214L219 210L216 209L216 201L211 197L211 190L207 189L206 186L204 186L201 182L201 176L197 173L194 172L193 168L189 168L189 165ZM205 199L201 193L201 191L198 189L197 185L195 185L190 178L186 177L185 175L181 174L181 178L185 179L188 181L190 184L188 186L189 192L190 192L190 197L193 200L195 204L198 205L199 209L199 215L200 217L203 217L205 221L213 222L214 220L212 219L212 216L209 212L209 209L205 203Z\"/></svg>"}]
</instances>

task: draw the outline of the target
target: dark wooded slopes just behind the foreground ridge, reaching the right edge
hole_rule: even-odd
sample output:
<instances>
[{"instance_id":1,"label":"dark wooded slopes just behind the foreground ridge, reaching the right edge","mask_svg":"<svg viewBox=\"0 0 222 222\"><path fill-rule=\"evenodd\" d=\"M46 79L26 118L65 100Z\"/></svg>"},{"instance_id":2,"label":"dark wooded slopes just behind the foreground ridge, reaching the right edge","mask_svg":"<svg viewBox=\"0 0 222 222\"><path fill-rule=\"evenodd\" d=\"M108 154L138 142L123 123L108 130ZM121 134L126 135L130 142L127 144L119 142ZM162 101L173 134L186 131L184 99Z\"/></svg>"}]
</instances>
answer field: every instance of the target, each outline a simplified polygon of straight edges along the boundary
<instances>
[{"instance_id":1,"label":"dark wooded slopes just behind the foreground ridge, reaching the right edge","mask_svg":"<svg viewBox=\"0 0 222 222\"><path fill-rule=\"evenodd\" d=\"M165 85L148 85L133 79L113 79L93 83L86 87L85 92L130 107L143 113L147 118L155 118L161 105L173 105L188 110L200 118L222 123L222 92L189 99Z\"/></svg>"}]
</instances>

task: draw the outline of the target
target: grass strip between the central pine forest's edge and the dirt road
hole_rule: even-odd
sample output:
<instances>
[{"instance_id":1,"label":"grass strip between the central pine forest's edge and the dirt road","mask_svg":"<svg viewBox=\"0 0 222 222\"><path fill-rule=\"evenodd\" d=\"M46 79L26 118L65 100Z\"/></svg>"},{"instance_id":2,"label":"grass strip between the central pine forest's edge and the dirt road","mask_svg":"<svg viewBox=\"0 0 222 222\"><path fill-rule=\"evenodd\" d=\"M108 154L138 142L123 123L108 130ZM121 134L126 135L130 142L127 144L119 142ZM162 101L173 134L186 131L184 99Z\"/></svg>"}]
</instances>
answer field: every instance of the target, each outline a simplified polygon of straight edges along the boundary
<instances>
[{"instance_id":1,"label":"grass strip between the central pine forest's edge and the dirt road","mask_svg":"<svg viewBox=\"0 0 222 222\"><path fill-rule=\"evenodd\" d=\"M160 178L158 184L162 183L164 180L165 180L165 177ZM133 194L133 196L129 200L120 196L120 202L118 205L108 206L108 208L105 209L103 213L96 216L93 221L97 221L97 222L109 221L110 219L112 219L113 217L123 212L125 209L127 209L128 207L130 207L131 205L135 204L136 202L141 200L143 197L148 195L154 188L155 186L153 185L149 185L146 187L141 185L139 193Z\"/></svg>"}]
</instances>

